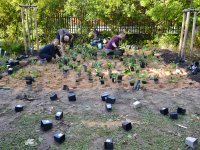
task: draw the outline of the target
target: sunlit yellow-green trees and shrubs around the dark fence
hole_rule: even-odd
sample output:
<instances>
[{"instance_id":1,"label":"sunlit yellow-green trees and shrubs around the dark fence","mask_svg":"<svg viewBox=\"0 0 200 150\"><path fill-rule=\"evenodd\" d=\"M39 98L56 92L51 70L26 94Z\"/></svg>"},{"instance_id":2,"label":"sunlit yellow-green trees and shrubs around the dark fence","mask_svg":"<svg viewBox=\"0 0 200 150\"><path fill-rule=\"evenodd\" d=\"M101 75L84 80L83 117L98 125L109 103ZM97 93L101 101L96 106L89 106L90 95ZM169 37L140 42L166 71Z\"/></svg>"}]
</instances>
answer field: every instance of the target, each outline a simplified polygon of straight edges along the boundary
<instances>
[{"instance_id":1,"label":"sunlit yellow-green trees and shrubs around the dark fence","mask_svg":"<svg viewBox=\"0 0 200 150\"><path fill-rule=\"evenodd\" d=\"M179 34L163 34L163 28L171 22L177 26L181 25L182 10L185 8L200 8L200 0L1 0L0 1L0 47L7 51L19 51L23 49L23 36L21 25L21 10L19 4L37 5L37 20L39 26L40 43L46 43L46 25L50 20L44 15L53 16L61 12L66 15L84 18L80 20L84 26L82 31L85 35L91 27L91 21L100 19L110 25L110 36L116 33L119 26L130 22L133 18L140 20L149 17L156 23L158 31L153 41L143 41L148 44L171 45L176 47ZM191 17L192 23L192 17ZM197 26L200 24L198 17ZM192 25L190 24L190 27ZM57 28L55 27L55 32ZM107 33L104 33L108 35ZM84 34L83 34L84 35ZM196 42L199 33L196 35ZM132 40L130 38L130 40ZM134 40L132 40L134 41ZM48 41L49 42L49 41ZM199 43L196 43L198 46Z\"/></svg>"}]
</instances>

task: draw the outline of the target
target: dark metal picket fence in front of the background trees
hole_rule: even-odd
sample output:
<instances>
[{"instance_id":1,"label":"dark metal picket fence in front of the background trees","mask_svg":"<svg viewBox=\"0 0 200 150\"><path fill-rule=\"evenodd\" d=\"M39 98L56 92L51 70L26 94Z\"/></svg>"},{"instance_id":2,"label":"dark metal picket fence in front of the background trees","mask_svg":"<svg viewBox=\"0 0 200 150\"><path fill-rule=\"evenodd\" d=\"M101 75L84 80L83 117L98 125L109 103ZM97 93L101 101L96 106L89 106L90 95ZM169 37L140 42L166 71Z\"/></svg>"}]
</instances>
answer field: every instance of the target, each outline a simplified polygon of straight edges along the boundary
<instances>
[{"instance_id":1,"label":"dark metal picket fence in front of the background trees","mask_svg":"<svg viewBox=\"0 0 200 150\"><path fill-rule=\"evenodd\" d=\"M65 16L63 13L56 14L54 16L43 16L42 18L44 19L44 22L46 22L45 33L48 33L46 37L49 38L55 36L56 32L60 28L67 28L73 34L81 34L86 28L96 28L100 32L111 31L114 28L114 26L109 25L107 22L103 22L101 20L93 20L90 22L90 27L86 27L83 24L84 18ZM137 35L154 35L157 33L176 34L179 33L179 30L180 27L172 22L165 22L163 26L160 26L157 22L150 20L149 17L143 17L142 19L133 18L128 22L125 22L120 27L117 27L117 31L127 31L131 34Z\"/></svg>"}]
</instances>

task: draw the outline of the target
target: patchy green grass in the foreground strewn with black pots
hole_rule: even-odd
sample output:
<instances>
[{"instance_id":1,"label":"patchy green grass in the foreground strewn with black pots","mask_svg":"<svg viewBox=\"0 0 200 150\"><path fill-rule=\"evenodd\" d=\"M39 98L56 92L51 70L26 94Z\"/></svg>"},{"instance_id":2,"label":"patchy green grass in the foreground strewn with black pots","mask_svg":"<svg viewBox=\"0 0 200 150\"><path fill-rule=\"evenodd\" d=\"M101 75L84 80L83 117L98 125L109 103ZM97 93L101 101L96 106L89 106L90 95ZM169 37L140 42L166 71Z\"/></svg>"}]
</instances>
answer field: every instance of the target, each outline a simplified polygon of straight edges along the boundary
<instances>
[{"instance_id":1,"label":"patchy green grass in the foreground strewn with black pots","mask_svg":"<svg viewBox=\"0 0 200 150\"><path fill-rule=\"evenodd\" d=\"M15 127L9 131L1 133L0 149L1 150L18 150L18 149L37 149L37 146L30 147L25 145L27 139L35 139L37 145L40 144L39 138L42 135L36 133L40 129L40 120L49 118L53 120L53 128L59 126L65 133L66 140L63 144L57 145L52 143L53 150L88 150L92 143L97 139L105 140L112 137L116 150L186 150L184 140L187 136L200 138L200 123L192 119L189 115L179 116L178 120L171 120L167 116L162 116L148 110L140 110L140 116L132 118L141 124L133 123L133 129L126 132L119 125L108 128L105 126L87 126L82 121L87 122L112 122L119 118L115 113L108 114L65 114L61 121L54 119L54 114L21 114L15 121ZM67 124L67 125L66 125ZM175 124L188 126L188 129L182 129ZM55 131L49 131L53 135ZM53 137L52 137L53 138ZM103 142L102 144L103 149Z\"/></svg>"}]
</instances>

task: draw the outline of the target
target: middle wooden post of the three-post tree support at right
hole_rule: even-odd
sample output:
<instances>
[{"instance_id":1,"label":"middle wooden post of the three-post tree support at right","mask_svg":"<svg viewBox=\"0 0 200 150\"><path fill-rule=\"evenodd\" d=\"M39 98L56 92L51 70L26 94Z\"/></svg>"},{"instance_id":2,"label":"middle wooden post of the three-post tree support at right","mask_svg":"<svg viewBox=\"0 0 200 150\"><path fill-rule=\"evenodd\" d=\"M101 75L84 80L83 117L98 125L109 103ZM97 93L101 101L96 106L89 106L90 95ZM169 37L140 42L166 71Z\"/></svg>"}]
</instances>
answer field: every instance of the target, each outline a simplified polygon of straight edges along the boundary
<instances>
[{"instance_id":1,"label":"middle wooden post of the three-post tree support at right","mask_svg":"<svg viewBox=\"0 0 200 150\"><path fill-rule=\"evenodd\" d=\"M181 50L181 60L182 61L185 61L185 45L186 45L186 40L187 40L189 23L190 23L190 11L187 12L187 18L186 18L185 34L184 34L183 46L182 46L182 50Z\"/></svg>"}]
</instances>

